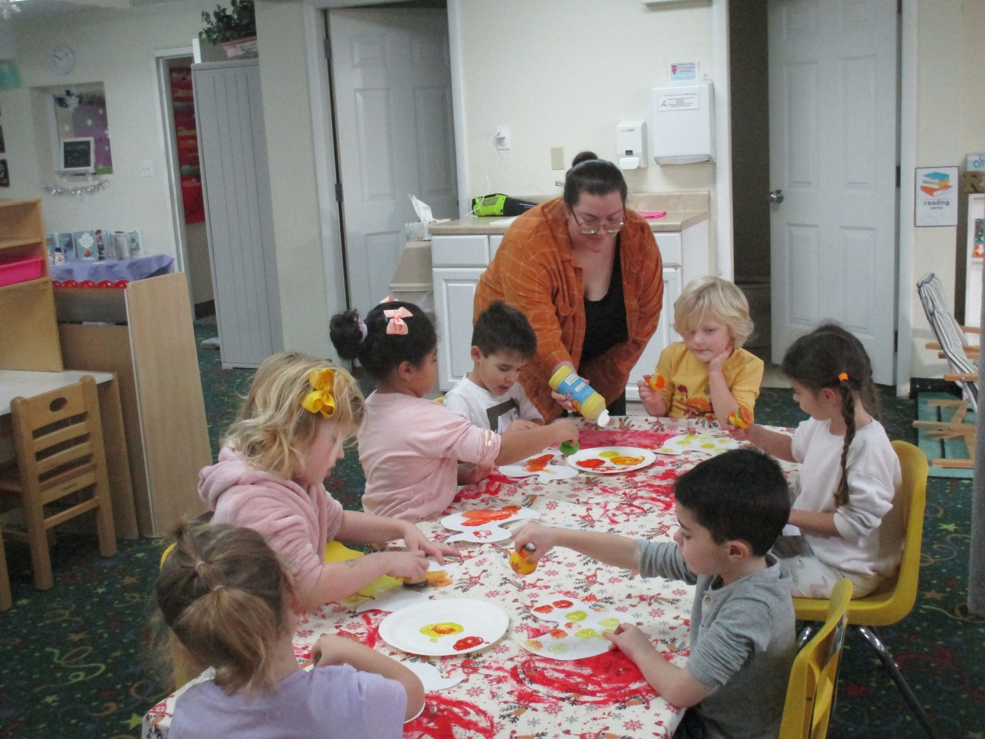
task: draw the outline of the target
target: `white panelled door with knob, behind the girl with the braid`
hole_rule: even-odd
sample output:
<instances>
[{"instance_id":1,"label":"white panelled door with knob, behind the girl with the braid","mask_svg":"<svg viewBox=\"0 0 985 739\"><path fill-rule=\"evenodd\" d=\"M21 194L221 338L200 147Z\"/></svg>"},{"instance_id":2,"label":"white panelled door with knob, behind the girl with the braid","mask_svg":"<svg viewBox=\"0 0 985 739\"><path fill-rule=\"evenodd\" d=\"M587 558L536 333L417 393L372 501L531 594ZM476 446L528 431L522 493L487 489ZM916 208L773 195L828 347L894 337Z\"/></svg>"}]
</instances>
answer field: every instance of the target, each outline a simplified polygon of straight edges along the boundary
<instances>
[{"instance_id":1,"label":"white panelled door with knob, behind the girl with the braid","mask_svg":"<svg viewBox=\"0 0 985 739\"><path fill-rule=\"evenodd\" d=\"M896 0L769 0L773 362L833 319L892 383L896 149Z\"/></svg>"}]
</instances>

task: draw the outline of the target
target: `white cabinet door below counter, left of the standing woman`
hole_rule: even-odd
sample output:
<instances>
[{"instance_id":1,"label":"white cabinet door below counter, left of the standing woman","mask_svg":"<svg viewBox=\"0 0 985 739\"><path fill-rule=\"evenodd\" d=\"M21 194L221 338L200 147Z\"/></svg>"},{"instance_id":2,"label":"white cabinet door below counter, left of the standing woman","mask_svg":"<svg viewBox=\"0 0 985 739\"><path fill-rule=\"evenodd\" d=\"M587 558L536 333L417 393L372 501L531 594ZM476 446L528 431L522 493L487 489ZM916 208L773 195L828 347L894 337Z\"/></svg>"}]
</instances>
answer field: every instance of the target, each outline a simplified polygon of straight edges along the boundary
<instances>
[{"instance_id":1,"label":"white cabinet door below counter, left of the standing woman","mask_svg":"<svg viewBox=\"0 0 985 739\"><path fill-rule=\"evenodd\" d=\"M437 268L434 273L434 315L437 320L437 378L450 390L472 370L472 305L485 269Z\"/></svg>"}]
</instances>

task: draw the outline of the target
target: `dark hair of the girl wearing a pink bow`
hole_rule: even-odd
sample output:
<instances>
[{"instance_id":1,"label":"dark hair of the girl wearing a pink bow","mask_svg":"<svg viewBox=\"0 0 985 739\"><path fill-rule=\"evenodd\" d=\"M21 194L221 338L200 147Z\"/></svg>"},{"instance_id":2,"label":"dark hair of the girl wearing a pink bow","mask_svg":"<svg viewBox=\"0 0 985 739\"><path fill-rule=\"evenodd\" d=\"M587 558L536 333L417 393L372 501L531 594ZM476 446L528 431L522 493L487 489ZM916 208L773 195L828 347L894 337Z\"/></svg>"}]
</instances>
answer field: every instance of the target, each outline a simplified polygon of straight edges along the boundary
<instances>
[{"instance_id":1,"label":"dark hair of the girl wearing a pink bow","mask_svg":"<svg viewBox=\"0 0 985 739\"><path fill-rule=\"evenodd\" d=\"M328 329L339 356L359 360L376 381L402 362L420 366L437 346L434 324L413 302L381 302L366 313L365 322L356 310L337 313Z\"/></svg>"}]
</instances>

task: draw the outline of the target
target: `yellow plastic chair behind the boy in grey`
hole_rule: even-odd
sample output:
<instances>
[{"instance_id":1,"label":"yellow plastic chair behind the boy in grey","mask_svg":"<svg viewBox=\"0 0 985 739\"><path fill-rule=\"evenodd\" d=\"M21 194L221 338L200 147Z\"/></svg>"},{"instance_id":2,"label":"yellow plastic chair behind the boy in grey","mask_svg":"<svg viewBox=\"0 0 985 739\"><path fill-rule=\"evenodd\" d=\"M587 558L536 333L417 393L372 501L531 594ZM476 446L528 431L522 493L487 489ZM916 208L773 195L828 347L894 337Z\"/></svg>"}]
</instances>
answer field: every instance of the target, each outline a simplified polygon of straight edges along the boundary
<instances>
[{"instance_id":1,"label":"yellow plastic chair behind the boy in grey","mask_svg":"<svg viewBox=\"0 0 985 739\"><path fill-rule=\"evenodd\" d=\"M852 581L842 577L834 583L827 601L824 625L794 658L779 739L824 739L827 735L851 599Z\"/></svg>"}]
</instances>

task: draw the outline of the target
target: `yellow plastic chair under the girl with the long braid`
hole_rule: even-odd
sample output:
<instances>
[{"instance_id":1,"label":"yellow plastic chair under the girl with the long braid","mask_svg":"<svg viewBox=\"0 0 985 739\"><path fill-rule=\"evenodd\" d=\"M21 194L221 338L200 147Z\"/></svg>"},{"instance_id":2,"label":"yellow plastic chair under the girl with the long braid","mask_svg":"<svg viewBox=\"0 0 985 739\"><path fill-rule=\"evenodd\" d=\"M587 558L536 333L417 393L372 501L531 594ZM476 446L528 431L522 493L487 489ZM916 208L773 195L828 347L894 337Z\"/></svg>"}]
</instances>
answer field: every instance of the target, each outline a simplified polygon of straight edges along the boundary
<instances>
[{"instance_id":1,"label":"yellow plastic chair under the girl with the long braid","mask_svg":"<svg viewBox=\"0 0 985 739\"><path fill-rule=\"evenodd\" d=\"M903 679L892 654L873 630L873 627L891 626L906 618L916 602L917 581L920 574L920 545L923 535L924 506L927 504L927 457L919 448L906 441L893 441L892 448L899 457L903 479L893 504L902 507L903 520L906 521L899 576L888 590L864 598L856 598L849 603L848 624L876 650L889 671L892 682L896 684L896 688L916 714L924 731L931 739L936 739L926 711ZM827 606L826 600L794 598L794 611L801 621L822 621ZM800 636L801 644L810 637L812 631L810 625L804 629Z\"/></svg>"}]
</instances>

